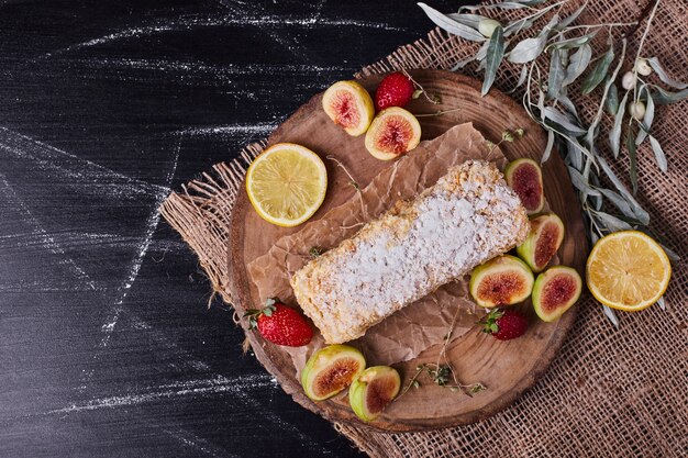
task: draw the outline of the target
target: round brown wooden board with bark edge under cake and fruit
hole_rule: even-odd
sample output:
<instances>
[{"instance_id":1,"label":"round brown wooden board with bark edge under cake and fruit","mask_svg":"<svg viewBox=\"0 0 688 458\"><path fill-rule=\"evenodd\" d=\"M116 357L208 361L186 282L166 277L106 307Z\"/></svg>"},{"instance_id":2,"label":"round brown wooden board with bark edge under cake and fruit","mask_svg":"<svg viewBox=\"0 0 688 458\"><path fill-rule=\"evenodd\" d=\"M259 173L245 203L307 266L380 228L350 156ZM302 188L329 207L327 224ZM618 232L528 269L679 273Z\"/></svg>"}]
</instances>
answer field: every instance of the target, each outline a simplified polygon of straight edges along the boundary
<instances>
[{"instance_id":1,"label":"round brown wooden board with bark edge under cake and fruit","mask_svg":"<svg viewBox=\"0 0 688 458\"><path fill-rule=\"evenodd\" d=\"M480 97L480 82L471 78L440 70L415 70L412 76L429 93L439 94L440 105L433 105L422 97L411 101L412 113L432 113L437 110L462 108L440 116L420 118L423 139L434 138L453 125L473 122L486 138L497 143L504 129L522 127L526 135L500 147L509 160L519 157L540 159L545 149L546 135L533 122L523 108L509 97L492 89ZM375 92L380 76L366 78L360 83ZM313 97L291 118L279 126L268 144L291 142L304 145L323 157L332 154L340 157L356 157L346 160L352 175L362 186L367 185L380 170L391 163L380 161L367 154L364 137L351 137L334 125L321 108L321 97ZM342 204L352 196L348 178L332 161L328 166L329 189L325 201L313 220L321 217L333 206ZM566 237L559 249L562 264L575 267L584 273L588 253L584 223L566 167L556 152L543 166L545 197L552 210L566 225ZM240 191L232 216L230 246L231 282L240 303L238 313L256 306L257 292L251 283L246 265L264 255L279 237L299 231L299 227L277 227L263 221L252 209L244 188ZM454 340L447 349L456 373L464 382L480 381L488 390L473 398L451 392L428 381L418 390L411 390L402 400L392 403L373 423L360 422L351 410L345 393L329 401L314 403L303 394L301 384L289 355L277 345L265 342L259 335L247 337L258 360L273 373L284 390L301 405L320 413L329 420L355 422L385 431L423 431L464 425L486 418L509 406L526 389L532 387L556 356L566 332L575 320L576 308L555 323L539 321L530 303L521 308L530 315L531 327L518 339L499 342L477 328ZM434 361L440 348L425 353L423 360L413 359L395 365L402 380L408 382L420 362Z\"/></svg>"}]
</instances>

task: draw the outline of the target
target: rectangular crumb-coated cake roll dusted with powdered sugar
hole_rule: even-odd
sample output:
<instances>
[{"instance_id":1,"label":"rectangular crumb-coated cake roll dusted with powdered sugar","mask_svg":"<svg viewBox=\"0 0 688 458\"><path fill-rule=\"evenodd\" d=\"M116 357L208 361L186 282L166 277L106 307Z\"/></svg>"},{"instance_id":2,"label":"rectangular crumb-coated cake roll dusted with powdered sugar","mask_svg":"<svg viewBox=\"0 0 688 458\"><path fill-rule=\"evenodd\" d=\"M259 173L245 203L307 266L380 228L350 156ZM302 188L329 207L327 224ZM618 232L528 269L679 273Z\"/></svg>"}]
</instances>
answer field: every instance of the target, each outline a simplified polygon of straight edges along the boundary
<instances>
[{"instance_id":1,"label":"rectangular crumb-coated cake roll dusted with powdered sugar","mask_svg":"<svg viewBox=\"0 0 688 458\"><path fill-rule=\"evenodd\" d=\"M525 209L495 165L469 160L311 260L290 282L326 343L340 344L510 250L528 232Z\"/></svg>"}]
</instances>

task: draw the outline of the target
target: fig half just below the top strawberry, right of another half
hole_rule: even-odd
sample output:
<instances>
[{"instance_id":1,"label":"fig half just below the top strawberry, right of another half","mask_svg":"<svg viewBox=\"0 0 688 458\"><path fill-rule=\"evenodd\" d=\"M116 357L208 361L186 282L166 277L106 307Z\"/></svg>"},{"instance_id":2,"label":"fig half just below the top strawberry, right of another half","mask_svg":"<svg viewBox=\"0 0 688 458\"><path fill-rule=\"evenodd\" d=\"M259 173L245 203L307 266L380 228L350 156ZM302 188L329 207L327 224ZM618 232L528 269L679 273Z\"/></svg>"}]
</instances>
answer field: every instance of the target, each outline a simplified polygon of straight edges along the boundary
<instances>
[{"instance_id":1,"label":"fig half just below the top strawberry, right of another half","mask_svg":"<svg viewBox=\"0 0 688 458\"><path fill-rule=\"evenodd\" d=\"M421 125L413 114L399 107L378 113L366 133L366 148L380 160L391 160L415 148Z\"/></svg>"}]
</instances>

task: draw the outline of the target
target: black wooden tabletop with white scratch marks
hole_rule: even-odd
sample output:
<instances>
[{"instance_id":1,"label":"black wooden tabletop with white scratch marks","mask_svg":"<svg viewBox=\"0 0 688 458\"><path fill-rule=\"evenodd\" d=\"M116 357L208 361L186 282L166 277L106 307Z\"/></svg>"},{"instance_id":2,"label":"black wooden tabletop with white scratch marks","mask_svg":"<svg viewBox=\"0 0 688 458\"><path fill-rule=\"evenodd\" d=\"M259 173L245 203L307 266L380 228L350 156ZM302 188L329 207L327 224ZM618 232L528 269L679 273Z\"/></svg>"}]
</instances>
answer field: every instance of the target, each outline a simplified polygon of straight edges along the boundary
<instances>
[{"instance_id":1,"label":"black wooden tabletop with white scratch marks","mask_svg":"<svg viewBox=\"0 0 688 458\"><path fill-rule=\"evenodd\" d=\"M157 208L430 27L395 0L0 2L0 456L359 456L242 355Z\"/></svg>"}]
</instances>

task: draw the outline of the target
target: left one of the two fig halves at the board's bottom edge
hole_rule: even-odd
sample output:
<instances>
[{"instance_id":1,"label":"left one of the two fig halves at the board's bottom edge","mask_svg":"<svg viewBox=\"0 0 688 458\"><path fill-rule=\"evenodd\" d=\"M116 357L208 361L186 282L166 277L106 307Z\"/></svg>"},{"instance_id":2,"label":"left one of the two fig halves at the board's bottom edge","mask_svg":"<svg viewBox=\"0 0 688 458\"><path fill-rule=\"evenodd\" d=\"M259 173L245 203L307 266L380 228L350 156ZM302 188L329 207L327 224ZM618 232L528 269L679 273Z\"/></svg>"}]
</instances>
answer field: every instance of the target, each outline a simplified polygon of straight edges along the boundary
<instances>
[{"instance_id":1,"label":"left one of the two fig halves at the board's bottom edge","mask_svg":"<svg viewBox=\"0 0 688 458\"><path fill-rule=\"evenodd\" d=\"M348 387L365 367L366 359L356 348L330 345L310 357L301 372L301 386L307 396L323 401Z\"/></svg>"}]
</instances>

